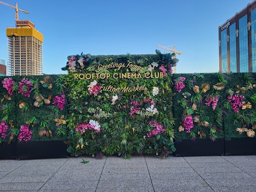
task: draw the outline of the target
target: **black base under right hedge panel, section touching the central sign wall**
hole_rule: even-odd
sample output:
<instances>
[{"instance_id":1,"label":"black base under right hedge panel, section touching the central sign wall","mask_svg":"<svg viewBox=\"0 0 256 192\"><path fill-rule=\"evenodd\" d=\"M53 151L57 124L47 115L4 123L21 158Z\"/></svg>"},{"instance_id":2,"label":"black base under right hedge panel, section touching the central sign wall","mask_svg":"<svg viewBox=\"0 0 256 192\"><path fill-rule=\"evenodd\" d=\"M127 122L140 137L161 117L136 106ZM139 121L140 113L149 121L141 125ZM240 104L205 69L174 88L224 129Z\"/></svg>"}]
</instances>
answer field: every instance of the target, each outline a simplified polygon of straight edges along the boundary
<instances>
[{"instance_id":1,"label":"black base under right hedge panel, section touching the central sign wall","mask_svg":"<svg viewBox=\"0 0 256 192\"><path fill-rule=\"evenodd\" d=\"M176 157L225 155L224 139L214 142L210 139L196 139L195 142L190 139L175 139L174 145Z\"/></svg>"}]
</instances>

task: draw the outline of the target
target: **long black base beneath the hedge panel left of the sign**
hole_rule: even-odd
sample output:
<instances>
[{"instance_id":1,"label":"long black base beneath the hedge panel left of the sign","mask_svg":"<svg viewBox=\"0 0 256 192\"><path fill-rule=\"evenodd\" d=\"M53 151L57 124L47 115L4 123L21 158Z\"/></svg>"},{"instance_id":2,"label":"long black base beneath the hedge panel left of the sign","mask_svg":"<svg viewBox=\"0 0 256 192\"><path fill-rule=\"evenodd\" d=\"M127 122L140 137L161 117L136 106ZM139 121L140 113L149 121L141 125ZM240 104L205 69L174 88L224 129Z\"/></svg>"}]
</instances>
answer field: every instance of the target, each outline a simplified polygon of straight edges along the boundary
<instances>
[{"instance_id":1,"label":"long black base beneath the hedge panel left of the sign","mask_svg":"<svg viewBox=\"0 0 256 192\"><path fill-rule=\"evenodd\" d=\"M35 159L68 157L67 145L63 141L30 141L0 146L0 159Z\"/></svg>"}]
</instances>

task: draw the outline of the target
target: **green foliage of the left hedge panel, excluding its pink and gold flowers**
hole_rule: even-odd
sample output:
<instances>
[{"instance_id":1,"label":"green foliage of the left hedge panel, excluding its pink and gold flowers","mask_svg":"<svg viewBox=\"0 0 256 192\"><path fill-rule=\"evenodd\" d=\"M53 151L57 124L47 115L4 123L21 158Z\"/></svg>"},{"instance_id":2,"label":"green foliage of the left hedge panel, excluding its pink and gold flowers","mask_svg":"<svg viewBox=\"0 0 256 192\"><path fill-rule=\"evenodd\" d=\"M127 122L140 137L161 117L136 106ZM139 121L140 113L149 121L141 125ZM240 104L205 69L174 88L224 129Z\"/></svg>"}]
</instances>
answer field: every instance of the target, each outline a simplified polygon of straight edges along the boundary
<instances>
[{"instance_id":1,"label":"green foliage of the left hedge panel, excluding its pink and gold flowers","mask_svg":"<svg viewBox=\"0 0 256 192\"><path fill-rule=\"evenodd\" d=\"M51 89L48 87L44 87L44 85L40 81L44 81L45 77L50 77L52 79ZM63 119L67 118L68 115L68 107L67 101L66 105L61 109L57 109L57 106L54 106L52 103L54 101L55 96L65 95L65 81L63 81L64 76L51 75L51 76L13 76L13 77L2 77L0 81L2 82L5 78L12 78L15 82L13 95L11 100L4 99L1 103L2 113L0 114L1 121L5 119L5 124L8 125L8 130L6 132L7 137L5 139L1 138L0 141L8 141L11 136L13 136L12 142L18 141L18 135L20 133L21 125L29 124L29 130L33 131L31 134L31 139L29 141L50 141L50 140L67 140L67 125L61 124L59 126L54 122L55 118L60 118L61 115L64 115ZM19 83L22 79L28 79L28 81L33 83L34 89L30 92L30 97L25 97L25 95L18 93L17 89ZM46 84L45 84L46 85ZM50 84L49 84L50 85ZM26 89L26 88L25 88ZM4 95L7 94L7 90L3 87L3 83L0 86L1 98L4 98ZM52 99L50 100L49 105L43 104L41 107L35 107L34 102L36 101L36 95L41 94L45 99L52 95ZM50 99L50 98L49 98ZM67 100L67 99L66 99ZM25 102L26 106L20 108L20 103ZM7 106L7 107L6 107ZM7 111L8 106L10 106L10 110ZM5 109L5 110L3 110ZM7 112L6 112L7 111ZM9 124L10 121L13 121L14 127L12 128ZM42 137L39 137L38 132L44 131ZM50 132L49 132L50 131ZM51 137L52 134L52 137ZM1 137L1 135L0 135ZM29 142L28 141L28 142ZM18 141L19 142L19 141ZM25 142L25 141L21 141Z\"/></svg>"}]
</instances>

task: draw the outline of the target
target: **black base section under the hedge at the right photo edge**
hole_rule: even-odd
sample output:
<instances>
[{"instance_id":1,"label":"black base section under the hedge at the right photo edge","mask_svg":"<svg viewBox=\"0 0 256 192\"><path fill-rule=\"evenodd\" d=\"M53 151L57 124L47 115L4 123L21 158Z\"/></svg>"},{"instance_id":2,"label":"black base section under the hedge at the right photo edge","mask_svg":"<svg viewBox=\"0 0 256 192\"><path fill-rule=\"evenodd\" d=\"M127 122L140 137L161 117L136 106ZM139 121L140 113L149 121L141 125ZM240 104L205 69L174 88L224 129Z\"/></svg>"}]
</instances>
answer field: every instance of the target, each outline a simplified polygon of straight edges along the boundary
<instances>
[{"instance_id":1,"label":"black base section under the hedge at the right photo edge","mask_svg":"<svg viewBox=\"0 0 256 192\"><path fill-rule=\"evenodd\" d=\"M226 155L256 155L256 138L226 138Z\"/></svg>"}]
</instances>

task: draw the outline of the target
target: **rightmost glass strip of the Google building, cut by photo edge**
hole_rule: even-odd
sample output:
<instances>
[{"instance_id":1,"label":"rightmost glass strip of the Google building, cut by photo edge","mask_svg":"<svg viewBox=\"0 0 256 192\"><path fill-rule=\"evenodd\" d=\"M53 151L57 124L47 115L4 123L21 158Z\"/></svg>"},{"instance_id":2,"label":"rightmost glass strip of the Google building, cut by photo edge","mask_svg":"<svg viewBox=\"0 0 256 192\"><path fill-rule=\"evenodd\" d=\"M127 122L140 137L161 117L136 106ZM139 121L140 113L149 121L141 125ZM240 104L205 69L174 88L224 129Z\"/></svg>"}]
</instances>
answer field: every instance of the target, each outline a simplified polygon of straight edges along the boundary
<instances>
[{"instance_id":1,"label":"rightmost glass strip of the Google building, cut by photo edge","mask_svg":"<svg viewBox=\"0 0 256 192\"><path fill-rule=\"evenodd\" d=\"M252 72L256 72L256 9L251 11Z\"/></svg>"}]
</instances>

